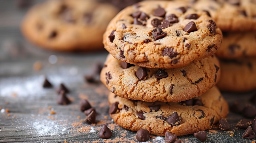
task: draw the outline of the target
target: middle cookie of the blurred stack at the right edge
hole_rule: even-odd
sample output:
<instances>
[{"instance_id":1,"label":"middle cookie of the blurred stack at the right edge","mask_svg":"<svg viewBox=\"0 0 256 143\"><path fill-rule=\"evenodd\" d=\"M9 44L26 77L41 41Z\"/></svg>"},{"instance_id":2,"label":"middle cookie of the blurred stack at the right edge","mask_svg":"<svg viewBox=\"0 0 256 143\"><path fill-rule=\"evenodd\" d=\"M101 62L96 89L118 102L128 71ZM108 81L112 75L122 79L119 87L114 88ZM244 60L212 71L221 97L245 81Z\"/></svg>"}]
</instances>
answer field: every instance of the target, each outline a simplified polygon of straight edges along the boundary
<instances>
[{"instance_id":1,"label":"middle cookie of the blurred stack at the right edge","mask_svg":"<svg viewBox=\"0 0 256 143\"><path fill-rule=\"evenodd\" d=\"M217 56L224 59L256 57L256 32L224 32Z\"/></svg>"}]
</instances>

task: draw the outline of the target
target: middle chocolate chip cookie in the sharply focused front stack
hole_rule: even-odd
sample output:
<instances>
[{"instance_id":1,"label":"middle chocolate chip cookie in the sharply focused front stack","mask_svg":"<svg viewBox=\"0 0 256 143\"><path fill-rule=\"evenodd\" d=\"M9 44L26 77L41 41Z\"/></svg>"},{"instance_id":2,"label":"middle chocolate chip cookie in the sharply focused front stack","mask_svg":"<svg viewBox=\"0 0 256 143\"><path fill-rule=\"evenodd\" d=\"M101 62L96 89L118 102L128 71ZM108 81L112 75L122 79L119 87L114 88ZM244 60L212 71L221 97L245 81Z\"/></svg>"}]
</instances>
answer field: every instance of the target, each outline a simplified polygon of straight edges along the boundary
<instances>
[{"instance_id":1,"label":"middle chocolate chip cookie in the sharply focused front stack","mask_svg":"<svg viewBox=\"0 0 256 143\"><path fill-rule=\"evenodd\" d=\"M216 57L176 69L149 69L108 55L100 80L117 96L147 102L178 102L202 95L220 79Z\"/></svg>"}]
</instances>

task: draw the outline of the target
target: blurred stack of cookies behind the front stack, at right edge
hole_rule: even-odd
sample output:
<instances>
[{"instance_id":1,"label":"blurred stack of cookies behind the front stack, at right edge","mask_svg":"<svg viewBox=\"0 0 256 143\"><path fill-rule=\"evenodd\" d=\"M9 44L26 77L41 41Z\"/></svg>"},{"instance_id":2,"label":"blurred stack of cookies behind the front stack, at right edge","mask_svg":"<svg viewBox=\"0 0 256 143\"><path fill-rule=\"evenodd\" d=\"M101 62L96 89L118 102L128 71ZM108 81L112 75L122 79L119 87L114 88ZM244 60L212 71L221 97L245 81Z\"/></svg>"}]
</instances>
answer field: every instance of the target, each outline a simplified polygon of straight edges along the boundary
<instances>
[{"instance_id":1,"label":"blurred stack of cookies behind the front stack, at right edge","mask_svg":"<svg viewBox=\"0 0 256 143\"><path fill-rule=\"evenodd\" d=\"M224 31L216 54L222 69L218 87L231 92L256 89L256 0L198 0L192 5L207 10Z\"/></svg>"}]
</instances>

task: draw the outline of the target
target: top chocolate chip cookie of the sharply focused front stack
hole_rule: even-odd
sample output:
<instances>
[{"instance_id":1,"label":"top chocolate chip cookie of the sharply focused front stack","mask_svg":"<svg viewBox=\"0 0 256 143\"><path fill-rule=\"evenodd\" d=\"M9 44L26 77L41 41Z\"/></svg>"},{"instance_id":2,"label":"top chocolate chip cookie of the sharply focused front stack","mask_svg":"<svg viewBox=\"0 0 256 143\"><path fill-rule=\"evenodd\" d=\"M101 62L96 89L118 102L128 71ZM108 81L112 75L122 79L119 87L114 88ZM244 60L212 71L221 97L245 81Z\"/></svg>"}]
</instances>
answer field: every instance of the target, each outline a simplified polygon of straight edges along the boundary
<instances>
[{"instance_id":1,"label":"top chocolate chip cookie of the sharply focused front stack","mask_svg":"<svg viewBox=\"0 0 256 143\"><path fill-rule=\"evenodd\" d=\"M147 68L178 68L217 52L222 32L204 11L180 1L144 1L110 22L103 44L116 59Z\"/></svg>"}]
</instances>

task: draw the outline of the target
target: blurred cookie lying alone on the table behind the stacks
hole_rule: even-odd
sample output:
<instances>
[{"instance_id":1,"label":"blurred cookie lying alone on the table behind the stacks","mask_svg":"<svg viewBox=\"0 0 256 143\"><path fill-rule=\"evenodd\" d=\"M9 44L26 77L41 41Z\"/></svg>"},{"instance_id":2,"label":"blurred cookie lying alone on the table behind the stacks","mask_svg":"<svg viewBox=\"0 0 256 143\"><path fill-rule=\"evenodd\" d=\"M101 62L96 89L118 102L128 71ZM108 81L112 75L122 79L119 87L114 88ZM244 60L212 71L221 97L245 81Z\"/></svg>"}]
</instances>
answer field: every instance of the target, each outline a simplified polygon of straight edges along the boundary
<instances>
[{"instance_id":1,"label":"blurred cookie lying alone on the table behind the stacks","mask_svg":"<svg viewBox=\"0 0 256 143\"><path fill-rule=\"evenodd\" d=\"M118 10L92 0L52 0L34 6L23 20L23 35L56 51L103 49L102 35Z\"/></svg>"}]
</instances>

